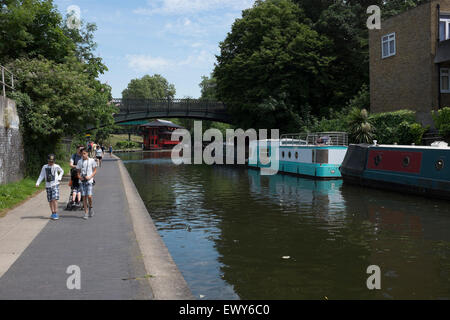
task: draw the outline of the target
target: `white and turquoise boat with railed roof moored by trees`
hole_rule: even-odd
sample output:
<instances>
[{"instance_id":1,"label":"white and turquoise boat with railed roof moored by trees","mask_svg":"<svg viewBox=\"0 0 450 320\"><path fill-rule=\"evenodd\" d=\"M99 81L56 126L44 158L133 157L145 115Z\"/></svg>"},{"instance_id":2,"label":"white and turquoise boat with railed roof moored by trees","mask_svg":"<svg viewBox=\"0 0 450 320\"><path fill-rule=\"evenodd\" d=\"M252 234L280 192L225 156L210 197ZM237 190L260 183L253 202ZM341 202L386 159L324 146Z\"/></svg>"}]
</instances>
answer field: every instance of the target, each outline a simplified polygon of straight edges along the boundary
<instances>
[{"instance_id":1,"label":"white and turquoise boat with railed roof moored by trees","mask_svg":"<svg viewBox=\"0 0 450 320\"><path fill-rule=\"evenodd\" d=\"M339 167L348 147L345 132L318 132L282 135L278 140L250 143L250 167L267 168L261 155L279 161L278 172L314 179L341 179ZM273 149L278 157L271 157Z\"/></svg>"}]
</instances>

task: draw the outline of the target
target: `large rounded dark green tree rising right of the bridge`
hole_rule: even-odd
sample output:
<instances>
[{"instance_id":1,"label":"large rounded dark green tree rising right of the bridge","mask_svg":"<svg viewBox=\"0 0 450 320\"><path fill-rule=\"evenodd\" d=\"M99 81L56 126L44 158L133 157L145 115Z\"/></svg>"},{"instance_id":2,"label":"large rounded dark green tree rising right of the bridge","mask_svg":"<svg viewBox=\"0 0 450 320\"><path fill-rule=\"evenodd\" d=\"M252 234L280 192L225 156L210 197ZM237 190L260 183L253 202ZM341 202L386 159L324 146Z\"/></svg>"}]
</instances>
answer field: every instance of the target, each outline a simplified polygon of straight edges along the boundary
<instances>
[{"instance_id":1,"label":"large rounded dark green tree rising right of the bridge","mask_svg":"<svg viewBox=\"0 0 450 320\"><path fill-rule=\"evenodd\" d=\"M306 23L289 0L256 1L234 22L214 77L236 124L290 131L325 107L321 92L333 57L324 52L327 39Z\"/></svg>"}]
</instances>

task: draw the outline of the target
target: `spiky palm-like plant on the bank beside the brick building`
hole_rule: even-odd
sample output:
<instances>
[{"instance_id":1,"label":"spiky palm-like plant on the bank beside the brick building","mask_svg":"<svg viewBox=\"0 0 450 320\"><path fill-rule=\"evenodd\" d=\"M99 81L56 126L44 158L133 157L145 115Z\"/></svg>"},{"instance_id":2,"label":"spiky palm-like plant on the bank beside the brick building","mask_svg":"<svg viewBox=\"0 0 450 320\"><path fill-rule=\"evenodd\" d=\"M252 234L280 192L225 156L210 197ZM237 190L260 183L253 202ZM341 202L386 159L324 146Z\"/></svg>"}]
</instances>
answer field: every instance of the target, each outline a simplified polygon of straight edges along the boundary
<instances>
[{"instance_id":1,"label":"spiky palm-like plant on the bank beside the brick building","mask_svg":"<svg viewBox=\"0 0 450 320\"><path fill-rule=\"evenodd\" d=\"M356 143L371 143L375 128L370 123L369 112L366 109L353 108L349 115L350 138Z\"/></svg>"}]
</instances>

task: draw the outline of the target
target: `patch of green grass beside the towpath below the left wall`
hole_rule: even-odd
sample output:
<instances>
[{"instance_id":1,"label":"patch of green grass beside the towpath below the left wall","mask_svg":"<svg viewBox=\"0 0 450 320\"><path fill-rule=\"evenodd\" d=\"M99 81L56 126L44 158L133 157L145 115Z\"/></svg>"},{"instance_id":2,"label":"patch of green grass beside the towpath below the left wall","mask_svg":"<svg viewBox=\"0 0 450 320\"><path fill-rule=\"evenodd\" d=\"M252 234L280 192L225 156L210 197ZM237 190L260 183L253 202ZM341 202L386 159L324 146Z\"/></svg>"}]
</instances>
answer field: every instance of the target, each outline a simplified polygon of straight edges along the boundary
<instances>
[{"instance_id":1,"label":"patch of green grass beside the towpath below the left wall","mask_svg":"<svg viewBox=\"0 0 450 320\"><path fill-rule=\"evenodd\" d=\"M45 185L45 184L44 184ZM0 218L6 214L9 209L27 200L44 186L36 188L36 180L25 178L19 182L0 185Z\"/></svg>"}]
</instances>

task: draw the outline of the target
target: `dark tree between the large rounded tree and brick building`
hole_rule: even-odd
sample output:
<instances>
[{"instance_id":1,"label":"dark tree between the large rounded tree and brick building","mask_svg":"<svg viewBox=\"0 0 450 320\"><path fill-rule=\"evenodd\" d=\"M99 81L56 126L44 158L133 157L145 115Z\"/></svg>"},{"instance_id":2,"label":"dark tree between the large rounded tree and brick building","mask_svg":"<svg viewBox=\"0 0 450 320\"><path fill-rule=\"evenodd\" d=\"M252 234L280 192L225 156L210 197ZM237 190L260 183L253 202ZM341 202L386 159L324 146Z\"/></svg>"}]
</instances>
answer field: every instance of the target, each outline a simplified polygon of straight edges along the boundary
<instances>
[{"instance_id":1,"label":"dark tree between the large rounded tree and brick building","mask_svg":"<svg viewBox=\"0 0 450 320\"><path fill-rule=\"evenodd\" d=\"M382 18L399 14L428 0L292 0L310 19L311 27L329 42L326 54L335 57L327 69L329 82L322 98L339 110L369 84L367 8L378 5ZM355 84L357 84L355 86ZM368 108L369 104L364 106ZM321 114L326 115L326 108Z\"/></svg>"}]
</instances>

